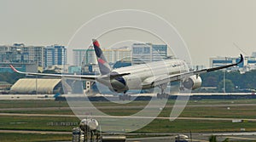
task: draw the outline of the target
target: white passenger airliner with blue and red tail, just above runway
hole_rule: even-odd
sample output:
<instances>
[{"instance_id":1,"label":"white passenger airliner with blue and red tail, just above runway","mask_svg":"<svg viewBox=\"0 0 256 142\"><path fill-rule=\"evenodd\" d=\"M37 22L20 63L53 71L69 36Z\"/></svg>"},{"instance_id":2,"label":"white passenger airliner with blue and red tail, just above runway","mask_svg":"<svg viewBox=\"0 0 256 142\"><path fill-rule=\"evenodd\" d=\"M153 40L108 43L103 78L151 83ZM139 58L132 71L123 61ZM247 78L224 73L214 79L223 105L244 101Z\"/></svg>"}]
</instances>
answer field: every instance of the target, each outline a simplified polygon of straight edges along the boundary
<instances>
[{"instance_id":1,"label":"white passenger airliner with blue and red tail, just above runway","mask_svg":"<svg viewBox=\"0 0 256 142\"><path fill-rule=\"evenodd\" d=\"M235 64L223 65L200 71L188 71L188 68L186 67L187 64L183 60L161 60L148 64L132 65L118 69L111 69L106 58L102 54L100 44L95 39L93 39L93 46L101 73L98 76L22 72L16 70L13 65L10 65L10 67L15 72L26 75L81 78L84 80L100 82L107 86L111 91L124 93L124 95L126 95L125 93L128 90L148 89L154 87L159 87L161 89L161 94L164 94L166 85L169 82L175 81L182 82L183 89L200 88L200 74L238 65L243 61L243 56L241 54L240 61Z\"/></svg>"}]
</instances>

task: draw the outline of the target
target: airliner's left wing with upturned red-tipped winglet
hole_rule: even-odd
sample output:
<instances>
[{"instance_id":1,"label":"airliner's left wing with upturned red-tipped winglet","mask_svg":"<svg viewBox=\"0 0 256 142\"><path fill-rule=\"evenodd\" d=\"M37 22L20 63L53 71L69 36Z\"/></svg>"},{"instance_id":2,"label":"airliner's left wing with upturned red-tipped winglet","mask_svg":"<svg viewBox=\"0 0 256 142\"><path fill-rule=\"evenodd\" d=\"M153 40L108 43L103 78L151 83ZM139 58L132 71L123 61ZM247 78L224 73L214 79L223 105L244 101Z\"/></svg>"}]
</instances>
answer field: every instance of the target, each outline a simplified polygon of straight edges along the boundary
<instances>
[{"instance_id":1,"label":"airliner's left wing with upturned red-tipped winglet","mask_svg":"<svg viewBox=\"0 0 256 142\"><path fill-rule=\"evenodd\" d=\"M65 74L49 74L49 73L35 73L35 72L22 72L15 69L13 65L9 65L13 71L25 74L25 75L32 75L32 76L47 76L47 77L67 77L72 79L84 79L84 80L96 80L98 76L90 76L90 75L65 75Z\"/></svg>"}]
</instances>

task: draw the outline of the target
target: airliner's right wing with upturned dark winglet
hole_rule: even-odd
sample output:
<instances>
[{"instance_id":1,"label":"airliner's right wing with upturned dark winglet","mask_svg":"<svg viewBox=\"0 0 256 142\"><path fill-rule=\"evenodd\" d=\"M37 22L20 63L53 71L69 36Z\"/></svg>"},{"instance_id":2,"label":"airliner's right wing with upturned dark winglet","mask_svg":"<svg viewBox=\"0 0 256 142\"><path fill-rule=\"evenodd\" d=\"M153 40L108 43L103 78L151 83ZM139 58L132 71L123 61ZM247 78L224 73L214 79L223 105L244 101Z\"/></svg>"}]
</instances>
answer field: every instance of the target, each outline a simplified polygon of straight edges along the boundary
<instances>
[{"instance_id":1,"label":"airliner's right wing with upturned dark winglet","mask_svg":"<svg viewBox=\"0 0 256 142\"><path fill-rule=\"evenodd\" d=\"M168 82L180 81L183 78L191 77L191 76L194 76L194 75L198 76L202 73L207 73L207 72L210 72L210 71L217 71L217 70L228 68L228 67L231 67L231 66L236 66L236 65L240 64L243 61L242 54L240 54L240 56L241 56L240 60L235 64L223 65L223 66L213 67L213 68L209 68L209 69L203 69L203 70L200 70L200 71L189 71L189 72L179 73L179 74L171 75L171 76L162 76L162 77L156 77L156 78L154 77L154 78L151 79L152 82L150 82L150 81L149 82L143 82L143 85L151 85L151 86L155 87L155 86L159 86L161 84L165 84L165 83L168 83Z\"/></svg>"}]
</instances>

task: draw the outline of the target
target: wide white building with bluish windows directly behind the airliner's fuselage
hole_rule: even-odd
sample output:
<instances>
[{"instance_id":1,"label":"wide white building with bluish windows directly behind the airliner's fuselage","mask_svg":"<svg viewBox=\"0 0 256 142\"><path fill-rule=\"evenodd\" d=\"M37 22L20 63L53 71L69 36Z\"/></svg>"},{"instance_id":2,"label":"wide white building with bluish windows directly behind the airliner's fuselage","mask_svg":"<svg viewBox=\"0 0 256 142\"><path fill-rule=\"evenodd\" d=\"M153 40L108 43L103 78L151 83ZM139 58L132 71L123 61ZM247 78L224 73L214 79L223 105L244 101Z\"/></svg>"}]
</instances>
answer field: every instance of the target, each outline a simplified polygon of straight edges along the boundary
<instances>
[{"instance_id":1,"label":"wide white building with bluish windows directly behind the airliner's fuselage","mask_svg":"<svg viewBox=\"0 0 256 142\"><path fill-rule=\"evenodd\" d=\"M165 60L166 58L167 45L157 45L152 43L132 44L132 65Z\"/></svg>"}]
</instances>

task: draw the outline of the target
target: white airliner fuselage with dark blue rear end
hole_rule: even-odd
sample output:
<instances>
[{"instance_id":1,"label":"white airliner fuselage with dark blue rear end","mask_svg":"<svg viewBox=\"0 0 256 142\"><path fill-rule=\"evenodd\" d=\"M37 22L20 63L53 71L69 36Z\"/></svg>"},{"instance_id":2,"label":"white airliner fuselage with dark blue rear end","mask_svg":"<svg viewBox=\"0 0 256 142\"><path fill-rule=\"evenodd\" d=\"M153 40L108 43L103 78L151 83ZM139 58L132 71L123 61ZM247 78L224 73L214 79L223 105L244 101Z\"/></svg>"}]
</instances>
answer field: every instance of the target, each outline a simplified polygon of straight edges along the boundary
<instances>
[{"instance_id":1,"label":"white airliner fuselage with dark blue rear end","mask_svg":"<svg viewBox=\"0 0 256 142\"><path fill-rule=\"evenodd\" d=\"M114 79L97 79L98 82L108 86L116 92L125 92L129 89L154 88L150 82L159 77L179 74L188 71L188 65L183 60L161 60L142 65L132 65L114 69L118 74L130 73L129 75Z\"/></svg>"}]
</instances>

